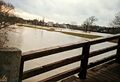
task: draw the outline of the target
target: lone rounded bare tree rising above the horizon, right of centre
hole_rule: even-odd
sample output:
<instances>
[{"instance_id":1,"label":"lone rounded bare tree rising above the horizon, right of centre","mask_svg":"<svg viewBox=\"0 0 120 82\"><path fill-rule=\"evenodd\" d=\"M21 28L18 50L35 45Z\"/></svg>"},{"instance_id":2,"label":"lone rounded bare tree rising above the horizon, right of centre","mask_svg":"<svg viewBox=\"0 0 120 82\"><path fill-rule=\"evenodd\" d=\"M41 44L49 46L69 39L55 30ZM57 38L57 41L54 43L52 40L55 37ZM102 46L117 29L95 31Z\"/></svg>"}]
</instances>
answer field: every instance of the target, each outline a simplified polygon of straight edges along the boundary
<instances>
[{"instance_id":1,"label":"lone rounded bare tree rising above the horizon, right of centre","mask_svg":"<svg viewBox=\"0 0 120 82\"><path fill-rule=\"evenodd\" d=\"M90 28L90 26L92 26L95 21L97 21L97 18L95 16L91 16L91 17L87 18L82 24L84 31L87 32L88 29Z\"/></svg>"}]
</instances>

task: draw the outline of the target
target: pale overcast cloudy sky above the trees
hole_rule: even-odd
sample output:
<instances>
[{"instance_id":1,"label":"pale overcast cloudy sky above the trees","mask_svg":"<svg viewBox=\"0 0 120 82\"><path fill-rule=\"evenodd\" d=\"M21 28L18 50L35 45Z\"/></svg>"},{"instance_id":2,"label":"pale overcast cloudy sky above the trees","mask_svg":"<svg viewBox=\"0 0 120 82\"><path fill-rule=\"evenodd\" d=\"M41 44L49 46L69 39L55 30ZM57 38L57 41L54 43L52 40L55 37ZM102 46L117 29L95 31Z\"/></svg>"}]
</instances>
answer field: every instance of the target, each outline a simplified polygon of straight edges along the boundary
<instances>
[{"instance_id":1,"label":"pale overcast cloudy sky above the trees","mask_svg":"<svg viewBox=\"0 0 120 82\"><path fill-rule=\"evenodd\" d=\"M90 17L98 18L97 25L108 26L120 11L120 0L6 0L16 14L27 19L42 19L58 23L81 24Z\"/></svg>"}]
</instances>

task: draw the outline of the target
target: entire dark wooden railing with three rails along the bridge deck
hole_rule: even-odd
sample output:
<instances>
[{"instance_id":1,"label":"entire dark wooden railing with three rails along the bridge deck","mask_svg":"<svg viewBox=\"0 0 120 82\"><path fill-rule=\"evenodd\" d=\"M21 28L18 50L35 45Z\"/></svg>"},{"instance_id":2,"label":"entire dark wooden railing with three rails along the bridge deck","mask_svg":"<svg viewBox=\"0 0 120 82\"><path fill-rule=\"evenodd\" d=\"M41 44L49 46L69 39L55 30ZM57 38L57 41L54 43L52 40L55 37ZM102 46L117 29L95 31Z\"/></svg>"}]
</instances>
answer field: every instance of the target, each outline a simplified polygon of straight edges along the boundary
<instances>
[{"instance_id":1,"label":"entire dark wooden railing with three rails along the bridge deck","mask_svg":"<svg viewBox=\"0 0 120 82\"><path fill-rule=\"evenodd\" d=\"M111 41L113 39L118 40L118 43L116 45L90 52L91 45L102 43L105 41ZM55 53L60 53L63 51L68 51L68 50L72 50L72 49L76 49L76 48L82 48L81 55L70 57L70 58L67 58L64 60L60 60L60 61L57 61L54 63L50 63L47 65L40 66L40 67L23 72L23 67L24 67L25 61L32 60L35 58L44 57L44 56L54 55ZM88 58L94 57L94 56L97 56L97 55L100 55L102 53L112 51L115 49L117 49L117 52L115 55L104 58L104 59L99 60L97 62L93 62L93 63L88 65ZM45 48L45 49L36 50L36 51L30 51L30 52L26 52L26 53L22 54L21 67L20 67L20 82L24 79L33 77L35 75L39 75L39 74L42 74L42 73L45 73L45 72L54 70L56 68L59 68L59 67L65 66L65 65L68 65L68 64L71 64L74 62L78 62L78 61L81 61L80 66L78 66L74 69L66 70L65 72L62 72L62 73L57 74L55 76L46 78L40 82L55 82L55 81L58 81L60 79L63 79L67 76L70 76L70 75L73 75L76 73L79 73L78 75L79 75L80 79L85 79L88 68L94 67L96 65L99 65L101 63L107 62L107 61L112 60L112 59L116 59L116 61L118 63L120 63L120 34L113 35L110 37L102 37L102 38L94 39L92 41L78 42L78 43L73 43L73 44Z\"/></svg>"}]
</instances>

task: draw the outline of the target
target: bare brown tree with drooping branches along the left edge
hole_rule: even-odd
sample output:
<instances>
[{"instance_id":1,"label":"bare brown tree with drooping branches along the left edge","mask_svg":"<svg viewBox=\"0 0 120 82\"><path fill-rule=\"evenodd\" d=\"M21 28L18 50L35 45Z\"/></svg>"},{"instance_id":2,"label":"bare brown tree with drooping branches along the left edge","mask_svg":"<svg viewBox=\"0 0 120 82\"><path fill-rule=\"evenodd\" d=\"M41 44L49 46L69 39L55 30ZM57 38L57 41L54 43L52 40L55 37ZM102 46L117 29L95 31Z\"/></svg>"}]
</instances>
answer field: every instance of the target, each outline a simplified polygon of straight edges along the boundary
<instances>
[{"instance_id":1,"label":"bare brown tree with drooping branches along the left edge","mask_svg":"<svg viewBox=\"0 0 120 82\"><path fill-rule=\"evenodd\" d=\"M14 16L14 6L10 3L6 3L0 0L0 48L5 47L4 45L8 41L8 31L11 28L3 29L16 21Z\"/></svg>"}]
</instances>

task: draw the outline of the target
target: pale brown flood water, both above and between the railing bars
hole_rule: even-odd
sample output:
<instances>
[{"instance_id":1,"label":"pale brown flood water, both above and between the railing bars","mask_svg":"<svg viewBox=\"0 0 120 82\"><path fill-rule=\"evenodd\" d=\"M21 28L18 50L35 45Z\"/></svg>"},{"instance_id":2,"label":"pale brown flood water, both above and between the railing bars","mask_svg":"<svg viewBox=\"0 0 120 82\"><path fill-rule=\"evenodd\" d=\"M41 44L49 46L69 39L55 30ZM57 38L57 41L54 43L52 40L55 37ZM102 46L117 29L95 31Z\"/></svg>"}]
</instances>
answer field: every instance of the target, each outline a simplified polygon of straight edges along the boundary
<instances>
[{"instance_id":1,"label":"pale brown flood water, both above and between the railing bars","mask_svg":"<svg viewBox=\"0 0 120 82\"><path fill-rule=\"evenodd\" d=\"M34 29L34 28L28 28L28 27L17 27L16 29L9 31L6 34L6 38L7 38L7 41L4 43L3 46L17 47L20 50L22 50L22 52L88 40L86 38L66 35L59 32L52 32L52 31L46 31L46 30ZM114 45L114 43L104 42L101 44L91 46L90 50L94 51L94 50L112 46L112 45ZM74 50L54 54L48 57L42 57L42 58L37 58L34 60L27 61L25 62L25 65L24 65L24 71L35 68L35 67L39 67L48 63L52 63L58 60L69 58L75 55L80 55L81 50L82 50L81 48L74 49ZM103 55L91 58L89 61L95 61L96 59L101 59L113 53L115 53L115 51L111 51ZM46 77L65 71L66 69L72 69L78 66L80 66L80 62L76 62L74 64L70 64L69 66L64 66L62 68L55 69L53 71L32 77L30 79L26 79L23 82L37 82Z\"/></svg>"}]
</instances>

